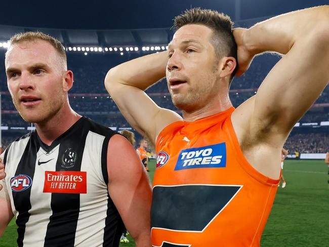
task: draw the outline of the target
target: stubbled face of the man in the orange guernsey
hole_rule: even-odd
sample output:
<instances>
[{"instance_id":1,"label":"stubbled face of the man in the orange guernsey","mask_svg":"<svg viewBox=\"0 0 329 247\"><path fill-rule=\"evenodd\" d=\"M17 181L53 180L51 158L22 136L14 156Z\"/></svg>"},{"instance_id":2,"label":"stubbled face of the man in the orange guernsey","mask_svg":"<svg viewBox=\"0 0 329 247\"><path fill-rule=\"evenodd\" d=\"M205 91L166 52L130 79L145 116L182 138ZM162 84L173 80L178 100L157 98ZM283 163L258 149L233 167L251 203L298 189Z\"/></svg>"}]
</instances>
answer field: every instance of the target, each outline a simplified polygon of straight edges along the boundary
<instances>
[{"instance_id":1,"label":"stubbled face of the man in the orange guernsey","mask_svg":"<svg viewBox=\"0 0 329 247\"><path fill-rule=\"evenodd\" d=\"M218 58L210 43L212 30L189 24L179 28L169 45L167 83L175 106L193 111L218 94Z\"/></svg>"}]
</instances>

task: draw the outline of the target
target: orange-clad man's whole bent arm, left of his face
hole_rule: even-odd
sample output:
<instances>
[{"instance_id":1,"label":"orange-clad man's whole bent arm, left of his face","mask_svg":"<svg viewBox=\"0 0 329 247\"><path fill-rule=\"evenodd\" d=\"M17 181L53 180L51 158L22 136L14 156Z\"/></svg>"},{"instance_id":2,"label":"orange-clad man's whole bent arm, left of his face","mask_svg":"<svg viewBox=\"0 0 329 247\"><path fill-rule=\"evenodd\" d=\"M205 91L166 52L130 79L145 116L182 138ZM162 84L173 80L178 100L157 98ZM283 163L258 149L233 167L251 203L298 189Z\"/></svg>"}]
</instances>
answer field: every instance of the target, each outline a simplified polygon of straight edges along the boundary
<instances>
[{"instance_id":1,"label":"orange-clad man's whole bent arm, left of his face","mask_svg":"<svg viewBox=\"0 0 329 247\"><path fill-rule=\"evenodd\" d=\"M159 132L169 123L181 120L174 111L156 105L145 93L166 76L168 52L140 57L110 69L105 87L122 115L142 136L155 143Z\"/></svg>"}]
</instances>

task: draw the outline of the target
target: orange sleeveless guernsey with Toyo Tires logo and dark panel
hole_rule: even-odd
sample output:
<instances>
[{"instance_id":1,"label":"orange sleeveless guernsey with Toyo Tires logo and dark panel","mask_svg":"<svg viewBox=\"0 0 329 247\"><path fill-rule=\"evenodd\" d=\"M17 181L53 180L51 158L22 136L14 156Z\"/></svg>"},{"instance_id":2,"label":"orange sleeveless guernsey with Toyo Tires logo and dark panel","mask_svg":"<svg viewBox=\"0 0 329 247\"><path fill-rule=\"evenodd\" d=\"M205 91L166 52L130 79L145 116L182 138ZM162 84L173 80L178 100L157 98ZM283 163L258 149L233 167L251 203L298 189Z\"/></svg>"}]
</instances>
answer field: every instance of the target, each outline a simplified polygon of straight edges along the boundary
<instances>
[{"instance_id":1,"label":"orange sleeveless guernsey with Toyo Tires logo and dark panel","mask_svg":"<svg viewBox=\"0 0 329 247\"><path fill-rule=\"evenodd\" d=\"M262 175L244 158L233 111L173 122L159 134L154 247L260 246L279 179Z\"/></svg>"}]
</instances>

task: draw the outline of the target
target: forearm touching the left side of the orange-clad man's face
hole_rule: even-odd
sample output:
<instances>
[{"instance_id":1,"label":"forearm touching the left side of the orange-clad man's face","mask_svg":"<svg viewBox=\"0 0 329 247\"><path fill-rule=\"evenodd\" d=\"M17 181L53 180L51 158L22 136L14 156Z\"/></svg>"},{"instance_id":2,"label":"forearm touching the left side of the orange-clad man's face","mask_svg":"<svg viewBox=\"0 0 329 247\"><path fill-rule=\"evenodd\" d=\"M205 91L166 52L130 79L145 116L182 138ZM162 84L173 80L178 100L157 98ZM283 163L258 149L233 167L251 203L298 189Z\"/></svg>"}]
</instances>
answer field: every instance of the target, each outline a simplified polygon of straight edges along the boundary
<instances>
[{"instance_id":1,"label":"forearm touching the left side of the orange-clad man's face","mask_svg":"<svg viewBox=\"0 0 329 247\"><path fill-rule=\"evenodd\" d=\"M119 83L145 90L166 76L167 62L168 52L165 51L122 63L110 69L105 78L105 86Z\"/></svg>"}]
</instances>

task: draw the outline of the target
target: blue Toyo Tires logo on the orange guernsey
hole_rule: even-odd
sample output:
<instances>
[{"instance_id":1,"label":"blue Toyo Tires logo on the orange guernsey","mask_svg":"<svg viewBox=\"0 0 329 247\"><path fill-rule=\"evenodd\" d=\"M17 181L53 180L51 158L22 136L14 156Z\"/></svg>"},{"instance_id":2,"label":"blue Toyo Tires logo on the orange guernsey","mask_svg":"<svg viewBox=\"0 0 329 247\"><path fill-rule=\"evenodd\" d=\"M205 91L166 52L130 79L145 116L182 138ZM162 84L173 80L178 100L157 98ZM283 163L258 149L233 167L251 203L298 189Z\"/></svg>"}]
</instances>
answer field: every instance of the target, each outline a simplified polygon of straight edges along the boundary
<instances>
[{"instance_id":1,"label":"blue Toyo Tires logo on the orange guernsey","mask_svg":"<svg viewBox=\"0 0 329 247\"><path fill-rule=\"evenodd\" d=\"M218 167L226 167L225 142L182 150L178 156L175 171L192 168Z\"/></svg>"}]
</instances>

